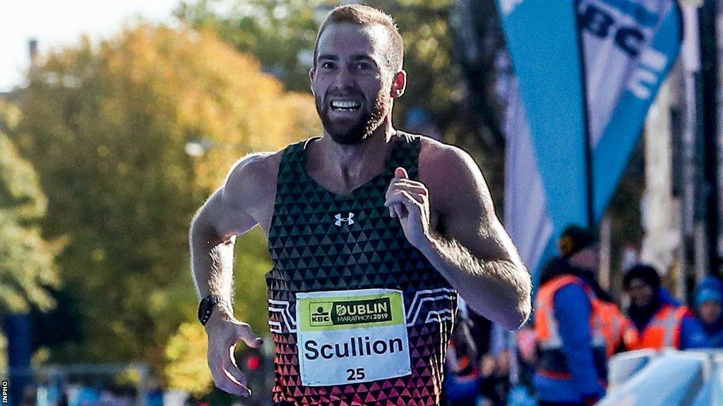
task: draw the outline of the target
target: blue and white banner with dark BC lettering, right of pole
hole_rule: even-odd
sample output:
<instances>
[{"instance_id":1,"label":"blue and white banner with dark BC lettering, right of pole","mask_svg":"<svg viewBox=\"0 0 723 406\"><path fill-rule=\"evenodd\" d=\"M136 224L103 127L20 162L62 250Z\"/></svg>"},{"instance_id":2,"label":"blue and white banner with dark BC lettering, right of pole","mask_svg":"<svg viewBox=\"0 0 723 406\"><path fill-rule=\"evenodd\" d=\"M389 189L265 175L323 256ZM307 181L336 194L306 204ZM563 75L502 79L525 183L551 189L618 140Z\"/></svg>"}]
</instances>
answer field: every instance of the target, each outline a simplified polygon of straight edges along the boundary
<instances>
[{"instance_id":1,"label":"blue and white banner with dark BC lettering, right of pole","mask_svg":"<svg viewBox=\"0 0 723 406\"><path fill-rule=\"evenodd\" d=\"M672 0L588 0L581 1L580 12L597 223L638 144L650 105L675 64L682 24ZM595 22L601 19L604 24Z\"/></svg>"}]
</instances>

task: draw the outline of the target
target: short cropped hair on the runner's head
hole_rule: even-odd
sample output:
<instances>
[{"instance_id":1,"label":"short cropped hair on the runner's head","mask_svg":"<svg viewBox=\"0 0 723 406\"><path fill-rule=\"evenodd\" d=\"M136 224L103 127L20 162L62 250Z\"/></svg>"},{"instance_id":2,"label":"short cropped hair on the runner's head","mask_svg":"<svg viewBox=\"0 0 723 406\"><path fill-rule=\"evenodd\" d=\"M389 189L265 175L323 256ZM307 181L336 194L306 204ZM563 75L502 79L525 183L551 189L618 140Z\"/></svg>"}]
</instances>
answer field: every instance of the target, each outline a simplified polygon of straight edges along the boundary
<instances>
[{"instance_id":1,"label":"short cropped hair on the runner's head","mask_svg":"<svg viewBox=\"0 0 723 406\"><path fill-rule=\"evenodd\" d=\"M317 51L319 39L326 27L332 24L348 22L357 25L382 25L387 29L389 34L389 48L385 53L385 63L393 72L399 72L402 69L404 59L404 44L402 36L399 34L397 24L389 14L382 12L374 7L364 6L363 4L346 4L344 6L335 7L327 14L326 19L322 22L314 43L314 67L316 68Z\"/></svg>"}]
</instances>

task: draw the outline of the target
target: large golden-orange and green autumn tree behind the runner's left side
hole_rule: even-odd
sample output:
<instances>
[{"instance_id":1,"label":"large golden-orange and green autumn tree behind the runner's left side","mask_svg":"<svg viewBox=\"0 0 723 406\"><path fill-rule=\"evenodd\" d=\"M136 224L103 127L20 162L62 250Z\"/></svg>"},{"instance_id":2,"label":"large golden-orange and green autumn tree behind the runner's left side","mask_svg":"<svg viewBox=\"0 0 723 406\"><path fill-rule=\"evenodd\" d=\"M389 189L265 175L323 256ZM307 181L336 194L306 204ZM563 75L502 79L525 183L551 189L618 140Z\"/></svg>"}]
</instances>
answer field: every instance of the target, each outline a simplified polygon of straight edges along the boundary
<instances>
[{"instance_id":1,"label":"large golden-orange and green autumn tree behind the runner's left side","mask_svg":"<svg viewBox=\"0 0 723 406\"><path fill-rule=\"evenodd\" d=\"M51 360L145 360L174 371L168 363L185 361L168 358L168 340L184 337L182 322L197 322L187 242L194 211L241 155L317 133L313 101L283 92L208 30L149 25L51 53L20 99L12 137L47 191L44 230L67 238L61 275L83 321ZM192 157L189 142L212 147ZM261 291L236 303L264 332L265 241L251 233L238 246L239 289Z\"/></svg>"}]
</instances>

